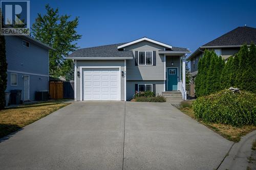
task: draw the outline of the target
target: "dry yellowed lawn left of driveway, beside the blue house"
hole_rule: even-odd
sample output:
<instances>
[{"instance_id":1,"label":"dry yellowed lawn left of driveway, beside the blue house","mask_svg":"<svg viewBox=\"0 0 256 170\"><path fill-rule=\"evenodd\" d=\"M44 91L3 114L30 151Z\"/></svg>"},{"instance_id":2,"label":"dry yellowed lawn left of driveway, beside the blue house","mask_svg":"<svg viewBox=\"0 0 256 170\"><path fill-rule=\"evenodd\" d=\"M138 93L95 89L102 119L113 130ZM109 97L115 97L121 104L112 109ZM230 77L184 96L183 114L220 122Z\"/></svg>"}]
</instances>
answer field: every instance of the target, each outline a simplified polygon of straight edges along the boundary
<instances>
[{"instance_id":1,"label":"dry yellowed lawn left of driveway, beside the blue house","mask_svg":"<svg viewBox=\"0 0 256 170\"><path fill-rule=\"evenodd\" d=\"M0 138L69 105L65 100L40 102L0 110Z\"/></svg>"}]
</instances>

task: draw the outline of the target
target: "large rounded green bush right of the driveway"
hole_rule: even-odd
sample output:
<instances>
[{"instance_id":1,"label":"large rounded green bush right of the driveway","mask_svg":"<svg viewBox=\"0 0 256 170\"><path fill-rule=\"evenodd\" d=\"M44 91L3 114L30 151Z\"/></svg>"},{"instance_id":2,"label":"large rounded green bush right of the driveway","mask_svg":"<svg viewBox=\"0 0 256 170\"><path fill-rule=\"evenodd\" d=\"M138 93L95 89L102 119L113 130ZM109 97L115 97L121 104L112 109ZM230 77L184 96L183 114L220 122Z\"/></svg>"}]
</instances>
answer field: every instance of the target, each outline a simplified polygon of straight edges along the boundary
<instances>
[{"instance_id":1,"label":"large rounded green bush right of the driveway","mask_svg":"<svg viewBox=\"0 0 256 170\"><path fill-rule=\"evenodd\" d=\"M193 102L195 117L206 123L256 125L256 94L221 90Z\"/></svg>"}]
</instances>

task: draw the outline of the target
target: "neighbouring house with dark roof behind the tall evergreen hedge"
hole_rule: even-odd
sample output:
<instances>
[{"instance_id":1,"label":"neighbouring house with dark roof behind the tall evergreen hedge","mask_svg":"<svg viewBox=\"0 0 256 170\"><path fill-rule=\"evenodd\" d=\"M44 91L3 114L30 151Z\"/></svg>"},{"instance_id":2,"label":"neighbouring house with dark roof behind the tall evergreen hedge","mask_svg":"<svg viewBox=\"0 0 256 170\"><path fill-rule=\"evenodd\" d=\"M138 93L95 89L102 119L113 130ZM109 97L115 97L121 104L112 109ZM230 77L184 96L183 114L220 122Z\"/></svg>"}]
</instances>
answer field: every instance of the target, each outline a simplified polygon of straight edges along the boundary
<instances>
[{"instance_id":1,"label":"neighbouring house with dark roof behind the tall evergreen hedge","mask_svg":"<svg viewBox=\"0 0 256 170\"><path fill-rule=\"evenodd\" d=\"M238 27L202 46L200 46L187 60L190 61L190 71L192 80L190 83L190 95L195 95L195 78L198 73L198 62L205 49L214 50L218 56L223 59L236 54L244 44L249 45L251 42L256 44L256 28Z\"/></svg>"}]
</instances>

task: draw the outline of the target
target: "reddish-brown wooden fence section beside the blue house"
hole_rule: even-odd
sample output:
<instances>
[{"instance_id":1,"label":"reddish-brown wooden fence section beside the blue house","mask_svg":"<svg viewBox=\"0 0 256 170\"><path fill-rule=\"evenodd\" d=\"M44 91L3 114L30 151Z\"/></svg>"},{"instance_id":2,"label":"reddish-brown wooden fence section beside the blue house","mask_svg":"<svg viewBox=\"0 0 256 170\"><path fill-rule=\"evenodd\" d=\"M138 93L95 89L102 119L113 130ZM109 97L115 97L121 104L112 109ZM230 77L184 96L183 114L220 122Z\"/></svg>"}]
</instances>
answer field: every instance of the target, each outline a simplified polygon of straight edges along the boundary
<instances>
[{"instance_id":1,"label":"reddish-brown wooden fence section beside the blue house","mask_svg":"<svg viewBox=\"0 0 256 170\"><path fill-rule=\"evenodd\" d=\"M51 99L63 99L63 83L62 82L50 82L49 83L49 95Z\"/></svg>"}]
</instances>

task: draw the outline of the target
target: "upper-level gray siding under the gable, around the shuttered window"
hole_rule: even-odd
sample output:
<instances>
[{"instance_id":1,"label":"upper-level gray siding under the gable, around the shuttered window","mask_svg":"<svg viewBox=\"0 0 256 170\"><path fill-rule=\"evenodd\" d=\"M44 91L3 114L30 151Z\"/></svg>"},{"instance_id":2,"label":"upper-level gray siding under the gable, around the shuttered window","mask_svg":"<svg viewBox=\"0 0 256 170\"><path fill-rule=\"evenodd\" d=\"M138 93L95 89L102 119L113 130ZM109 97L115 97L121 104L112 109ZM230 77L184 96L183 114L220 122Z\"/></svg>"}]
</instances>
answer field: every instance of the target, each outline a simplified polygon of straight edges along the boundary
<instances>
[{"instance_id":1,"label":"upper-level gray siding under the gable, around the shuttered window","mask_svg":"<svg viewBox=\"0 0 256 170\"><path fill-rule=\"evenodd\" d=\"M164 80L164 55L159 55L158 51L164 47L148 42L139 43L125 47L125 51L156 51L156 65L135 65L135 57L126 60L126 80Z\"/></svg>"}]
</instances>

